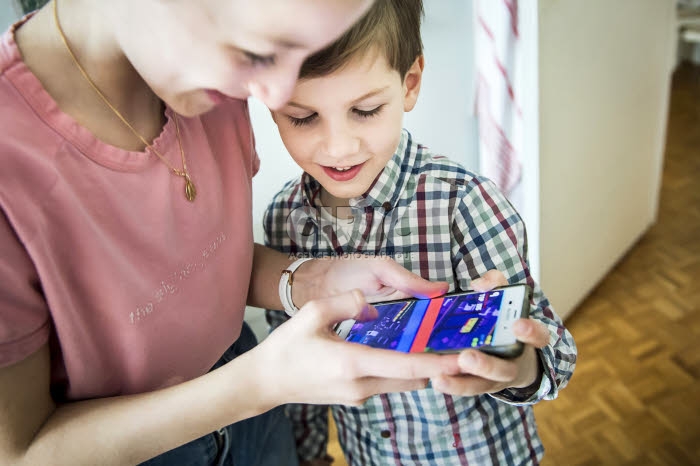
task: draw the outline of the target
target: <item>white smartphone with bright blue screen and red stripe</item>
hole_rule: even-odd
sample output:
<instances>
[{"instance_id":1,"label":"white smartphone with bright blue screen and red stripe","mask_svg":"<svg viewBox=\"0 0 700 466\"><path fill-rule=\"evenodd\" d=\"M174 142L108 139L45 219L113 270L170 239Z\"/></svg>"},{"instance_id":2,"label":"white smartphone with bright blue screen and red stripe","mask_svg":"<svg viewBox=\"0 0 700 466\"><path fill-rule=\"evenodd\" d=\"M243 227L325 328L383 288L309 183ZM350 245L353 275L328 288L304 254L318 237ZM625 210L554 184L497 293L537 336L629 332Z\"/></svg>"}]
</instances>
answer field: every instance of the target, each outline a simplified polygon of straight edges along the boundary
<instances>
[{"instance_id":1,"label":"white smartphone with bright blue screen and red stripe","mask_svg":"<svg viewBox=\"0 0 700 466\"><path fill-rule=\"evenodd\" d=\"M513 322L529 314L529 287L510 285L491 291L449 293L432 299L374 303L379 316L368 322L346 320L341 338L404 353L457 353L477 348L514 358L523 351Z\"/></svg>"}]
</instances>

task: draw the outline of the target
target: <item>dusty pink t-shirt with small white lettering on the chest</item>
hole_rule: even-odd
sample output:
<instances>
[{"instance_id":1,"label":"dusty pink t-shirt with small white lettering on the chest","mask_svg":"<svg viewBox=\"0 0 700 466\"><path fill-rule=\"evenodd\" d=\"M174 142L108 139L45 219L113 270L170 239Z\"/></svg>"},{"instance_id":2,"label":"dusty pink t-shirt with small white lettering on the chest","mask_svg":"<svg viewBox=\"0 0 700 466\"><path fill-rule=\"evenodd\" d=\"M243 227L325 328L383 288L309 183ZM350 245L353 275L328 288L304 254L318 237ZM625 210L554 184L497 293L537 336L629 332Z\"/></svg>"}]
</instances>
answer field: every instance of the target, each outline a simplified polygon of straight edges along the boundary
<instances>
[{"instance_id":1,"label":"dusty pink t-shirt with small white lettering on the chest","mask_svg":"<svg viewBox=\"0 0 700 466\"><path fill-rule=\"evenodd\" d=\"M153 146L180 167L166 115ZM0 366L48 341L59 400L192 379L239 336L259 164L248 108L178 120L193 203L150 150L109 146L61 112L14 27L0 38Z\"/></svg>"}]
</instances>

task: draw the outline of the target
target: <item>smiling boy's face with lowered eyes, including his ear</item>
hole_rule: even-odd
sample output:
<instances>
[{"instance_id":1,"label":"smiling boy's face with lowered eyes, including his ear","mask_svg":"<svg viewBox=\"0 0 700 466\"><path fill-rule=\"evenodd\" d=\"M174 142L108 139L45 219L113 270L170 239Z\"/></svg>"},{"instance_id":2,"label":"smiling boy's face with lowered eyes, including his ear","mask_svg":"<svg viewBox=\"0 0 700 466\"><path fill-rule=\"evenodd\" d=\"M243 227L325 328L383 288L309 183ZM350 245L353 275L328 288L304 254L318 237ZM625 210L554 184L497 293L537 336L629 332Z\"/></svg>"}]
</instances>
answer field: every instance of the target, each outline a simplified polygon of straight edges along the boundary
<instances>
[{"instance_id":1,"label":"smiling boy's face with lowered eyes, including his ear","mask_svg":"<svg viewBox=\"0 0 700 466\"><path fill-rule=\"evenodd\" d=\"M366 193L396 151L403 114L420 88L422 59L401 79L371 50L337 71L301 79L273 117L294 161L323 187L324 204Z\"/></svg>"}]
</instances>

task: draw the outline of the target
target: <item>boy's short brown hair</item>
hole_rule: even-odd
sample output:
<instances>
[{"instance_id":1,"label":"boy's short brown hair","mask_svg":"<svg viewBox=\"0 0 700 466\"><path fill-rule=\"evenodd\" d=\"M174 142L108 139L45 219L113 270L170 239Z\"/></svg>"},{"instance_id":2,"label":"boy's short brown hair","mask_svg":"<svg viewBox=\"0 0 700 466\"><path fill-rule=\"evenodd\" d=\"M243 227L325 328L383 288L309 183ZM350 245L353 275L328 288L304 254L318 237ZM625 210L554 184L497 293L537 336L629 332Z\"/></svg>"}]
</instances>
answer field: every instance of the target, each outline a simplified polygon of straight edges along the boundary
<instances>
[{"instance_id":1,"label":"boy's short brown hair","mask_svg":"<svg viewBox=\"0 0 700 466\"><path fill-rule=\"evenodd\" d=\"M331 74L372 47L383 53L389 66L403 78L416 58L423 54L422 17L422 0L376 0L345 34L306 59L299 78Z\"/></svg>"}]
</instances>

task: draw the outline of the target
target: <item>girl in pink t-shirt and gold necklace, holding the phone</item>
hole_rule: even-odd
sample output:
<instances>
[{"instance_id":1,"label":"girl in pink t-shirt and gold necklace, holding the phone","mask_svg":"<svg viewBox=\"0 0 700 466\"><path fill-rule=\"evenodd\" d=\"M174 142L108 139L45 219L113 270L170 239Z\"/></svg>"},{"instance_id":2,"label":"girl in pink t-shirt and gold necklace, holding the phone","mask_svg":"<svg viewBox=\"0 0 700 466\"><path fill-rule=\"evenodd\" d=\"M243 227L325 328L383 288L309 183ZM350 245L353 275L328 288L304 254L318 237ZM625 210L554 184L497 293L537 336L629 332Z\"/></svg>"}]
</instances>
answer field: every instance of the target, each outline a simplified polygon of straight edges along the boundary
<instances>
[{"instance_id":1,"label":"girl in pink t-shirt and gold necklace, holding the phone","mask_svg":"<svg viewBox=\"0 0 700 466\"><path fill-rule=\"evenodd\" d=\"M243 325L292 263L253 244L244 99L282 106L372 0L56 1L0 39L4 461L295 464L276 406L469 389L457 356L330 330L445 291L389 260L305 263L302 312L254 349Z\"/></svg>"}]
</instances>

